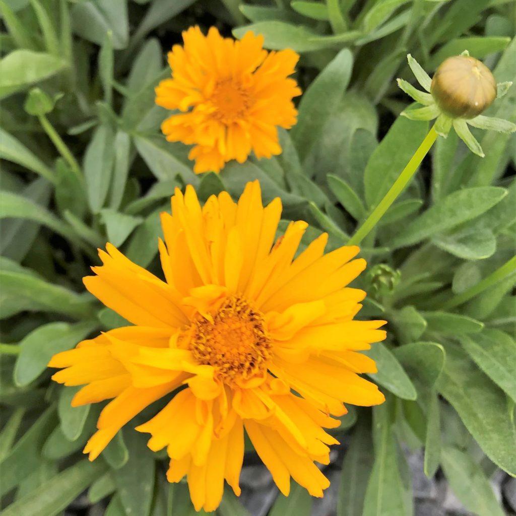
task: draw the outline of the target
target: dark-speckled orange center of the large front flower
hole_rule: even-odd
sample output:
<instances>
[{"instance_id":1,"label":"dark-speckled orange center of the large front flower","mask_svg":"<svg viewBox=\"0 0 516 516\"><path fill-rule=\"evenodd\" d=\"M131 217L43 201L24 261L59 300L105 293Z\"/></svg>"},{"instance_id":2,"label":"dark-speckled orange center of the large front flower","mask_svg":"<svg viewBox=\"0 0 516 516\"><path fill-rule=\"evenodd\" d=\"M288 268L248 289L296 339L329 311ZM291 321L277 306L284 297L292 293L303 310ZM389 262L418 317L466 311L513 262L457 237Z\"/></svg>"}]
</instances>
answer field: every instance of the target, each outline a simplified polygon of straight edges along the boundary
<instances>
[{"instance_id":1,"label":"dark-speckled orange center of the large front flower","mask_svg":"<svg viewBox=\"0 0 516 516\"><path fill-rule=\"evenodd\" d=\"M243 299L225 299L213 322L202 316L192 323L190 350L200 364L215 367L225 383L263 373L271 357L271 341L263 314Z\"/></svg>"}]
</instances>

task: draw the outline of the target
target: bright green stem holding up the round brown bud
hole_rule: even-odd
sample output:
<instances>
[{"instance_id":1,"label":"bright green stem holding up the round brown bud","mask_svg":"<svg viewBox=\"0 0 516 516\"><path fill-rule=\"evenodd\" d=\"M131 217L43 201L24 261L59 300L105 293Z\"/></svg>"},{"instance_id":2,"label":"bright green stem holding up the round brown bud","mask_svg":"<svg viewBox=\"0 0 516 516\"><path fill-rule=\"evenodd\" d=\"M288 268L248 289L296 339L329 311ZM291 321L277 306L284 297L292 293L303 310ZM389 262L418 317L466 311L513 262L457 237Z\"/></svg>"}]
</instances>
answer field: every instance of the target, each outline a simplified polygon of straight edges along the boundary
<instances>
[{"instance_id":1,"label":"bright green stem holding up the round brown bud","mask_svg":"<svg viewBox=\"0 0 516 516\"><path fill-rule=\"evenodd\" d=\"M409 163L399 174L398 179L391 186L391 189L385 194L380 203L376 206L358 231L348 241L348 246L358 245L367 236L367 234L375 227L378 221L383 217L385 212L391 207L392 203L397 199L399 194L405 189L409 181L413 178L417 168L421 165L423 158L431 149L434 141L437 139L437 133L434 127L430 129L425 139L410 158Z\"/></svg>"}]
</instances>

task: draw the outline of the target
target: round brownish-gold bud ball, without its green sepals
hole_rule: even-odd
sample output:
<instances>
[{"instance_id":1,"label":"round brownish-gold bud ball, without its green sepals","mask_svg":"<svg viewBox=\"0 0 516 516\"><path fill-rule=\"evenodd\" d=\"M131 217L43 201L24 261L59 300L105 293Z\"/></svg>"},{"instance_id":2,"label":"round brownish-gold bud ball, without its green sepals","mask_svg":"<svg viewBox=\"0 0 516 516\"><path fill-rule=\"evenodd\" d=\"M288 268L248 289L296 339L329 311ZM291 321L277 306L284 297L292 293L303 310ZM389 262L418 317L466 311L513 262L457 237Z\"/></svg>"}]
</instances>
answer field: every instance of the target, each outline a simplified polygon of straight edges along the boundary
<instances>
[{"instance_id":1,"label":"round brownish-gold bud ball, without its green sepals","mask_svg":"<svg viewBox=\"0 0 516 516\"><path fill-rule=\"evenodd\" d=\"M489 68L478 59L455 56L441 63L432 78L430 91L446 115L470 119L496 99L496 81Z\"/></svg>"}]
</instances>

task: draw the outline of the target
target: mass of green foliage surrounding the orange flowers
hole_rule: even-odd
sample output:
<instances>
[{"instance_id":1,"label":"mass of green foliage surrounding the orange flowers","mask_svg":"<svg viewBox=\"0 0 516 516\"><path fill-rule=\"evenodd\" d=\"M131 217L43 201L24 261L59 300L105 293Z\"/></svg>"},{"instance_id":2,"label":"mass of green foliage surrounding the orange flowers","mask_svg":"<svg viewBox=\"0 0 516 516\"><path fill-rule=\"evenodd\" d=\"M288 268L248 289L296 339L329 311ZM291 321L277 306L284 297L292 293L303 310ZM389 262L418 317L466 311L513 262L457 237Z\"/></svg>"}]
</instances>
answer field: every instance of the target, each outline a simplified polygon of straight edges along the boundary
<instances>
[{"instance_id":1,"label":"mass of green foliage surrounding the orange flowers","mask_svg":"<svg viewBox=\"0 0 516 516\"><path fill-rule=\"evenodd\" d=\"M2 515L61 514L85 490L91 504L110 497L108 516L193 514L186 485L167 485L165 456L134 424L89 463L80 450L100 407L71 408L75 390L49 382L54 353L125 324L84 292L96 248L110 241L160 275L158 214L174 187L191 183L205 200L238 196L252 179L265 201L281 197L283 228L311 224L305 245L321 231L343 245L428 130L398 118L406 54L431 73L467 49L498 82L516 80L516 4L0 0L0 10ZM161 135L154 86L195 24L237 38L253 30L268 49L301 54L299 122L281 131L280 156L196 176L188 149ZM488 114L516 121L516 88ZM360 316L389 321L388 341L367 352L388 400L350 410L337 429L349 444L338 516L410 516L406 452L423 447L425 473L444 474L467 509L516 510L489 483L499 469L516 474L516 274L489 280L516 245L516 137L475 134L485 158L454 134L439 139L363 242ZM482 281L490 287L472 295ZM309 514L311 503L295 488L270 515ZM228 492L217 513L247 511Z\"/></svg>"}]
</instances>

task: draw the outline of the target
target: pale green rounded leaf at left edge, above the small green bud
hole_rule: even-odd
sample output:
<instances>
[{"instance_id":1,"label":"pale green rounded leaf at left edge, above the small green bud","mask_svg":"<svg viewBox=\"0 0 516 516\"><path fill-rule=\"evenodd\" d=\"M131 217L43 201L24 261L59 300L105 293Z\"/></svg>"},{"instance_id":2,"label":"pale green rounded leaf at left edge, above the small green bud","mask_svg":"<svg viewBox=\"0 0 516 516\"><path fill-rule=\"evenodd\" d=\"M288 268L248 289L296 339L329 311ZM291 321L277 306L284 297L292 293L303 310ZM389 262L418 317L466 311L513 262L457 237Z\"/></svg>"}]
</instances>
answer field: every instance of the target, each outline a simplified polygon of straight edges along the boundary
<instances>
[{"instance_id":1,"label":"pale green rounded leaf at left edge, above the small green bud","mask_svg":"<svg viewBox=\"0 0 516 516\"><path fill-rule=\"evenodd\" d=\"M14 50L0 60L0 98L51 77L67 66L58 56L31 50Z\"/></svg>"}]
</instances>

